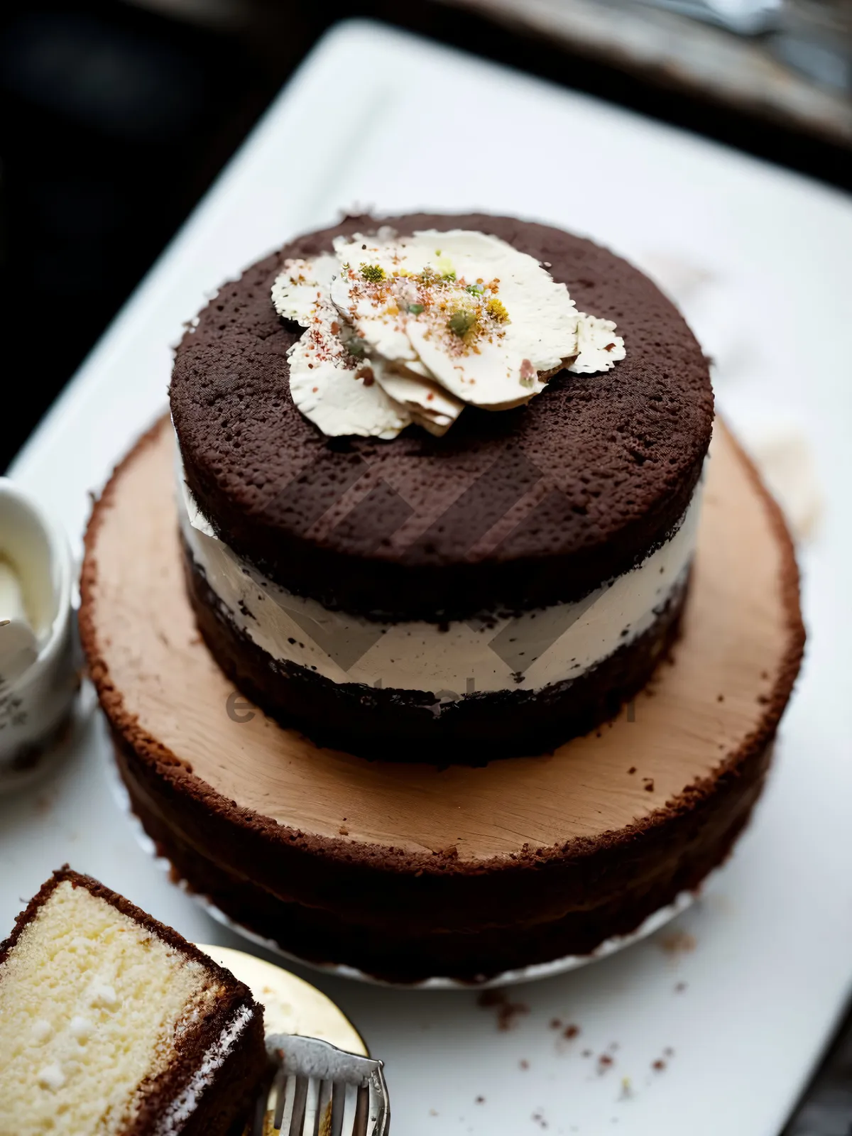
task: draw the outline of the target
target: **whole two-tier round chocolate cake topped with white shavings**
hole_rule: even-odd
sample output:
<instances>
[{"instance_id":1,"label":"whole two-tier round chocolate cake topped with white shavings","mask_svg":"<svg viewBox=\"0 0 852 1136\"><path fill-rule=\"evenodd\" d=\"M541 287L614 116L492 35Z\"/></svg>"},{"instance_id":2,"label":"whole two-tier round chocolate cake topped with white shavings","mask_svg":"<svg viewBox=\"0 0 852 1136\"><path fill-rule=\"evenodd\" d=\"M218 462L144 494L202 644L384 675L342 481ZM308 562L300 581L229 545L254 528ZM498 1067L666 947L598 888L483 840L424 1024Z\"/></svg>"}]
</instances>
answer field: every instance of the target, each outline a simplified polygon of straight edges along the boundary
<instances>
[{"instance_id":1,"label":"whole two-tier round chocolate cake topped with white shavings","mask_svg":"<svg viewBox=\"0 0 852 1136\"><path fill-rule=\"evenodd\" d=\"M725 860L796 565L641 273L509 218L348 218L222 289L170 400L95 506L80 626L189 888L302 959L481 980Z\"/></svg>"}]
</instances>

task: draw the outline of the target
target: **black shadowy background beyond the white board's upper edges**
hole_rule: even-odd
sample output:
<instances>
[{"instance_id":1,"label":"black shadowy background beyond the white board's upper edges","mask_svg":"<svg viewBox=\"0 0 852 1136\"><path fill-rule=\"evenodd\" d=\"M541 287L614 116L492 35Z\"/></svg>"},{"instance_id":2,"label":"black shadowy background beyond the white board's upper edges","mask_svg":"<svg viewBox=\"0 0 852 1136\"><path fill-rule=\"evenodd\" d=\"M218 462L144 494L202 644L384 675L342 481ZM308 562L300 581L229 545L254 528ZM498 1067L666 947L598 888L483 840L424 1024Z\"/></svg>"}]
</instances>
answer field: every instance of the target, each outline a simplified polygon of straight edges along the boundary
<instances>
[{"instance_id":1,"label":"black shadowy background beyond the white board's upper edges","mask_svg":"<svg viewBox=\"0 0 852 1136\"><path fill-rule=\"evenodd\" d=\"M371 16L849 185L850 151L429 0L12 2L0 17L0 469L293 68ZM12 350L20 344L20 354Z\"/></svg>"}]
</instances>

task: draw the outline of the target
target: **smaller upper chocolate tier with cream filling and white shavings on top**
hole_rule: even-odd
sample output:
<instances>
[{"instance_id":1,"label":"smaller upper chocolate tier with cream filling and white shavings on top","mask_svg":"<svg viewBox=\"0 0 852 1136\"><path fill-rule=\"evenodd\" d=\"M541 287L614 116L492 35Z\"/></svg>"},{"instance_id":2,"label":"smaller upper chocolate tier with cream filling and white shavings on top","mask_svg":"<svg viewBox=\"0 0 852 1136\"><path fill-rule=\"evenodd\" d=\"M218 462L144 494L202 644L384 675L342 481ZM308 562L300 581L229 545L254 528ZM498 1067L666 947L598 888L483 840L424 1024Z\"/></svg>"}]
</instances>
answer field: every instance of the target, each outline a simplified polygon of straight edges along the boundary
<instances>
[{"instance_id":1,"label":"smaller upper chocolate tier with cream filling and white shavings on top","mask_svg":"<svg viewBox=\"0 0 852 1136\"><path fill-rule=\"evenodd\" d=\"M349 217L219 291L170 403L199 629L323 745L542 752L616 713L675 640L708 366L658 289L591 241Z\"/></svg>"}]
</instances>

